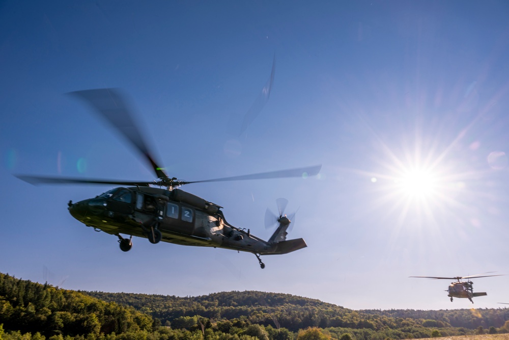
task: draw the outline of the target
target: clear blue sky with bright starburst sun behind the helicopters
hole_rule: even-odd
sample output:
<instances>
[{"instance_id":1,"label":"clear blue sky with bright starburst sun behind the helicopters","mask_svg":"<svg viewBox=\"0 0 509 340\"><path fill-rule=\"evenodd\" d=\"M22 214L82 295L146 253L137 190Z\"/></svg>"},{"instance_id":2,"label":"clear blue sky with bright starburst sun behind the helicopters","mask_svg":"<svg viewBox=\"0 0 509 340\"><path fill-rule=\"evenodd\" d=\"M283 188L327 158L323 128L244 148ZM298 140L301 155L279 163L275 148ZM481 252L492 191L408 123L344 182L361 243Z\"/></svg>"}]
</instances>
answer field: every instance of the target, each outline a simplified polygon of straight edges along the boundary
<instances>
[{"instance_id":1,"label":"clear blue sky with bright starburst sun behind the helicopters","mask_svg":"<svg viewBox=\"0 0 509 340\"><path fill-rule=\"evenodd\" d=\"M470 308L448 280L509 274L509 4L505 1L0 3L0 271L72 290L177 296L257 290L347 308ZM238 137L270 76L269 101ZM13 174L151 180L115 132L65 93L118 87L171 176L322 164L318 177L194 184L268 239L297 211L308 247L266 256L152 245L123 253L69 200L110 186ZM414 180L415 179L415 180ZM474 280L474 307L509 276Z\"/></svg>"}]
</instances>

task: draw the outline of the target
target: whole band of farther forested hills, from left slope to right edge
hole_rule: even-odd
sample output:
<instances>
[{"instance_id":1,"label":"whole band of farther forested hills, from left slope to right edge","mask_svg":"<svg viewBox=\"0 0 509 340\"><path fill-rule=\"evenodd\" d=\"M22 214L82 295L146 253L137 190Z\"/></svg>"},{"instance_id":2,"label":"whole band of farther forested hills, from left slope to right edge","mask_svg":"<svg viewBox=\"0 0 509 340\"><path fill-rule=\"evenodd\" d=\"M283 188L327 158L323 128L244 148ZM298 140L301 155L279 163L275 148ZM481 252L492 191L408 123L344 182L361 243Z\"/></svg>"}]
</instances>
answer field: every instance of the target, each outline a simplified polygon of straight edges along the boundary
<instances>
[{"instance_id":1,"label":"whole band of farther forested hills, from left slope to right edge","mask_svg":"<svg viewBox=\"0 0 509 340\"><path fill-rule=\"evenodd\" d=\"M292 331L307 327L349 329L393 329L412 332L441 329L450 335L468 329L509 326L509 308L454 310L359 310L289 294L257 291L223 292L198 297L87 292L104 301L115 301L149 312L164 325L180 325L193 316L210 320L245 319L264 326ZM454 329L454 330L453 330ZM493 330L492 330L493 331ZM503 331L503 330L502 330Z\"/></svg>"}]
</instances>

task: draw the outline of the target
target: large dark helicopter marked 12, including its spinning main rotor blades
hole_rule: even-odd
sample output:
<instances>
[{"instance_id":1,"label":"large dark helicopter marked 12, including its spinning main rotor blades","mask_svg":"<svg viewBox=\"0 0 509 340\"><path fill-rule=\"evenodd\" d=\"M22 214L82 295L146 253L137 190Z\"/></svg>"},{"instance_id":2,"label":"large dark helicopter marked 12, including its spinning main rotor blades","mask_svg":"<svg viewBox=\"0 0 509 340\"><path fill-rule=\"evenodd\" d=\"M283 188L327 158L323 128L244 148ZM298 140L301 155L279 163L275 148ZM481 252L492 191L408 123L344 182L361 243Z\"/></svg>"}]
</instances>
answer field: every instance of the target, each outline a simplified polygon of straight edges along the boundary
<instances>
[{"instance_id":1,"label":"large dark helicopter marked 12, including its spinning main rotor blades","mask_svg":"<svg viewBox=\"0 0 509 340\"><path fill-rule=\"evenodd\" d=\"M264 172L243 176L198 181L170 178L154 160L124 97L116 89L93 89L71 92L89 103L122 134L151 164L155 181L98 180L16 175L31 184L113 184L126 187L111 189L95 198L76 203L69 201L69 212L78 221L119 239L120 249L129 251L132 237L146 238L186 246L218 247L250 252L265 268L260 255L286 254L307 247L303 239L287 240L290 219L280 210L278 223L268 241L253 236L249 229L229 224L221 206L177 187L200 182L315 176L321 165ZM159 188L157 188L159 187ZM129 235L129 238L121 236Z\"/></svg>"}]
</instances>

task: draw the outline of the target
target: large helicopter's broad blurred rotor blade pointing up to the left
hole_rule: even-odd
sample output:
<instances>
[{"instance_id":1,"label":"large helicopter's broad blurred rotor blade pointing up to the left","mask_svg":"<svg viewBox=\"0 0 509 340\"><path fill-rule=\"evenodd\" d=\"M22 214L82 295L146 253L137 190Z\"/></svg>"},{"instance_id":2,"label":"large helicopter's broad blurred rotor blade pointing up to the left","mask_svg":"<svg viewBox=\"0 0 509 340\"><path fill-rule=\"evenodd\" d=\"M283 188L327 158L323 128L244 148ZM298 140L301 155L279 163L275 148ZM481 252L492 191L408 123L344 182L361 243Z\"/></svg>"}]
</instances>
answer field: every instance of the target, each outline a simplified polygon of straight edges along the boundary
<instances>
[{"instance_id":1,"label":"large helicopter's broad blurred rotor blade pointing up to the left","mask_svg":"<svg viewBox=\"0 0 509 340\"><path fill-rule=\"evenodd\" d=\"M93 89L69 92L89 103L101 117L106 119L139 152L155 171L157 178L168 177L162 167L156 164L145 140L135 124L124 96L117 89Z\"/></svg>"}]
</instances>

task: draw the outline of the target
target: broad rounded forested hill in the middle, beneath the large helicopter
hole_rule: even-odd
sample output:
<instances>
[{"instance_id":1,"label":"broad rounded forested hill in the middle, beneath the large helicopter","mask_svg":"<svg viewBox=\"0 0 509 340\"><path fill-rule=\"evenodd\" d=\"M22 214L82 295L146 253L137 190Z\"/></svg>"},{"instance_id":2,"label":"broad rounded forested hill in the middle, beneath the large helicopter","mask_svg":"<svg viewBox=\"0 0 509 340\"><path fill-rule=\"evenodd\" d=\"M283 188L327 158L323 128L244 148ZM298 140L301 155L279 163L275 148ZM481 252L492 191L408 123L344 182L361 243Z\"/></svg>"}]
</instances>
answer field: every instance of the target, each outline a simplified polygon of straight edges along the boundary
<instances>
[{"instance_id":1,"label":"broad rounded forested hill in the middle, beneath the large helicopter","mask_svg":"<svg viewBox=\"0 0 509 340\"><path fill-rule=\"evenodd\" d=\"M83 292L104 301L114 301L150 312L162 324L196 315L214 319L246 318L251 323L285 327L373 327L351 309L290 294L256 291L222 292L197 297L129 293ZM367 316L373 319L373 316ZM178 321L178 320L177 320Z\"/></svg>"}]
</instances>

